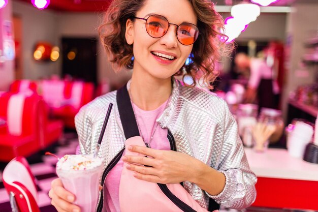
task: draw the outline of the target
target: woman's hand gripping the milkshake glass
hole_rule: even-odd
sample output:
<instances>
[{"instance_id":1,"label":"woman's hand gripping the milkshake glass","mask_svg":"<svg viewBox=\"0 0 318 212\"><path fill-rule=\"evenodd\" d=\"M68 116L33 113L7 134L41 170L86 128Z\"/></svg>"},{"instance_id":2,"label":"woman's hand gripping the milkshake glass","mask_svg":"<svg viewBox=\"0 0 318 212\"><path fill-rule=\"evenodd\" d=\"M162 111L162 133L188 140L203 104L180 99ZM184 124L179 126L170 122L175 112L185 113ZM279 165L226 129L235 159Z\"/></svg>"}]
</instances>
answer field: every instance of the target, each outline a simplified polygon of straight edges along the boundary
<instances>
[{"instance_id":1,"label":"woman's hand gripping the milkshake glass","mask_svg":"<svg viewBox=\"0 0 318 212\"><path fill-rule=\"evenodd\" d=\"M72 202L75 201L75 196L63 187L62 181L59 178L52 181L49 197L52 199L51 204L57 209L58 212L81 211L79 206L72 204Z\"/></svg>"}]
</instances>

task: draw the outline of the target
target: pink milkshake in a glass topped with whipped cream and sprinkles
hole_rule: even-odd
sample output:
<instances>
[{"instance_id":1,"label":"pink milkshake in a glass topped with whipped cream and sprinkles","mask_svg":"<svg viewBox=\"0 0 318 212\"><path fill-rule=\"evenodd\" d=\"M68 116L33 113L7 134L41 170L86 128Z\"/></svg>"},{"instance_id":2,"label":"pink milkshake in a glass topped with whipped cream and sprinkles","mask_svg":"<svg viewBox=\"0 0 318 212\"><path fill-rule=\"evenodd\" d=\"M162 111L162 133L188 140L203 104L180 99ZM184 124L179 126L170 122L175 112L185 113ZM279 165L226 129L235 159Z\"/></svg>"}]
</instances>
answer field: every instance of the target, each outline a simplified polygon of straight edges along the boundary
<instances>
[{"instance_id":1,"label":"pink milkshake in a glass topped with whipped cream and sprinkles","mask_svg":"<svg viewBox=\"0 0 318 212\"><path fill-rule=\"evenodd\" d=\"M96 211L102 172L103 160L93 155L65 155L56 164L57 176L65 189L76 196L74 204L81 212Z\"/></svg>"}]
</instances>

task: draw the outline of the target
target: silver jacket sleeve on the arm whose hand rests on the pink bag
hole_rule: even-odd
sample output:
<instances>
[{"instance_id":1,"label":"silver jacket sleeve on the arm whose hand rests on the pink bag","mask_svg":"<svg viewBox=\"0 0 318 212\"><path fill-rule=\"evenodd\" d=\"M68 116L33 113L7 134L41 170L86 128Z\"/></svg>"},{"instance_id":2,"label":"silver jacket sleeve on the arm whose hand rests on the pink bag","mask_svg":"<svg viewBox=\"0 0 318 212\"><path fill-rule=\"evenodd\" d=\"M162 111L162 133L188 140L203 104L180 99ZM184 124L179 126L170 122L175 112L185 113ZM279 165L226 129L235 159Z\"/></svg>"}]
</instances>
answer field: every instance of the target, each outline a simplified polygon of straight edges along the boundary
<instances>
[{"instance_id":1,"label":"silver jacket sleeve on the arm whose hand rests on the pink bag","mask_svg":"<svg viewBox=\"0 0 318 212\"><path fill-rule=\"evenodd\" d=\"M224 127L224 139L217 170L225 175L226 184L218 195L206 194L222 206L242 209L256 199L257 177L249 168L236 120L226 103L224 122L220 125Z\"/></svg>"}]
</instances>

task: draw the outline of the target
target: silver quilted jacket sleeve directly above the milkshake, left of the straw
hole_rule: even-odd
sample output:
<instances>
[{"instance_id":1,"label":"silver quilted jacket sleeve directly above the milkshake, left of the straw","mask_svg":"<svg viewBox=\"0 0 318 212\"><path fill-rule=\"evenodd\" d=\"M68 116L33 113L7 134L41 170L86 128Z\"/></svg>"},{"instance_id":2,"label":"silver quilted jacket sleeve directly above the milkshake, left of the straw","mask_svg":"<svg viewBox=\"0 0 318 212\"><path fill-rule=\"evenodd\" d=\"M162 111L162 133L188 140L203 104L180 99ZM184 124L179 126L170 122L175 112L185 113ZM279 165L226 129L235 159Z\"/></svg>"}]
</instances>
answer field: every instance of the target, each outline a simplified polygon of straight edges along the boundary
<instances>
[{"instance_id":1,"label":"silver quilted jacket sleeve directly above the milkshake, left of the straw","mask_svg":"<svg viewBox=\"0 0 318 212\"><path fill-rule=\"evenodd\" d=\"M90 143L92 139L92 122L87 114L88 105L83 106L75 116L75 128L78 134L81 154L90 154Z\"/></svg>"}]
</instances>

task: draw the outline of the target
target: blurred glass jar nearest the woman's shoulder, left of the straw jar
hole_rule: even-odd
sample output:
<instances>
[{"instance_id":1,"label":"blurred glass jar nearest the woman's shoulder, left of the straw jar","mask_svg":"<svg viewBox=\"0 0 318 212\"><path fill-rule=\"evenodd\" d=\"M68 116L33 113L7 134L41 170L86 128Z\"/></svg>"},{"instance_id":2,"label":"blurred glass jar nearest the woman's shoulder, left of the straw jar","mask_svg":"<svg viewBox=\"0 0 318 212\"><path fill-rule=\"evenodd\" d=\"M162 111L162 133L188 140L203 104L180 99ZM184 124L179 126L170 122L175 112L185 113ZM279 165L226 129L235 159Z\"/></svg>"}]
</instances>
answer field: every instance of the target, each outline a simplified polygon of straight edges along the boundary
<instances>
[{"instance_id":1,"label":"blurred glass jar nearest the woman's shoulder, left of the straw jar","mask_svg":"<svg viewBox=\"0 0 318 212\"><path fill-rule=\"evenodd\" d=\"M238 133L246 147L253 145L252 127L257 123L258 105L240 104L237 110Z\"/></svg>"}]
</instances>

